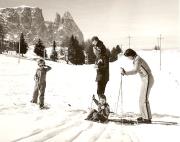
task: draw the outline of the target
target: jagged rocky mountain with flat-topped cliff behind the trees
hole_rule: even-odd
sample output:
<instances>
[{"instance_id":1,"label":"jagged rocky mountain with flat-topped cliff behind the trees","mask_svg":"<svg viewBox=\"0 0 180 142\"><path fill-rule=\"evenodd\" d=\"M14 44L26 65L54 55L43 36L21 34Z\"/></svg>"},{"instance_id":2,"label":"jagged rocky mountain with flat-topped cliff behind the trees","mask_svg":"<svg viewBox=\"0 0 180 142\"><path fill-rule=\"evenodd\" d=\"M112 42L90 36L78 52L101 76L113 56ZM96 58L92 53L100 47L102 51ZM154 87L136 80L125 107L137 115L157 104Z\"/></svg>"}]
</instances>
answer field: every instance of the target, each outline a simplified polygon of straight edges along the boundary
<instances>
[{"instance_id":1,"label":"jagged rocky mountain with flat-topped cliff behind the trees","mask_svg":"<svg viewBox=\"0 0 180 142\"><path fill-rule=\"evenodd\" d=\"M45 44L53 40L61 43L63 38L74 35L80 42L84 41L83 33L75 23L70 12L61 17L56 13L54 21L45 21L42 9L38 7L19 6L1 8L0 18L7 28L7 39L18 40L21 32L25 34L28 43L34 43L40 38Z\"/></svg>"}]
</instances>

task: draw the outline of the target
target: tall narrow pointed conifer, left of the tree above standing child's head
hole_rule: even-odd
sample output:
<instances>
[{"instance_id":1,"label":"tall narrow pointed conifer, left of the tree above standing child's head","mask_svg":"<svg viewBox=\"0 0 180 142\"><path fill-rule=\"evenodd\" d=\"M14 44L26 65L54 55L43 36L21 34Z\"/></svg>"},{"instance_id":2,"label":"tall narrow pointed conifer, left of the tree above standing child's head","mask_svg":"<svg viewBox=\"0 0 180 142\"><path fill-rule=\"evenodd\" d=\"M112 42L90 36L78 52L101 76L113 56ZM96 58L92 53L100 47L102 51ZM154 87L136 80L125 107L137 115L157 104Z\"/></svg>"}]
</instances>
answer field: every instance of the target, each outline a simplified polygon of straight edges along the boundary
<instances>
[{"instance_id":1,"label":"tall narrow pointed conifer, left of the tree above standing child's head","mask_svg":"<svg viewBox=\"0 0 180 142\"><path fill-rule=\"evenodd\" d=\"M23 54L26 54L27 50L28 50L28 44L26 43L26 41L24 39L24 34L21 33L20 47L19 47L19 42L18 42L18 46L16 47L16 52L22 54L22 56L23 56Z\"/></svg>"}]
</instances>

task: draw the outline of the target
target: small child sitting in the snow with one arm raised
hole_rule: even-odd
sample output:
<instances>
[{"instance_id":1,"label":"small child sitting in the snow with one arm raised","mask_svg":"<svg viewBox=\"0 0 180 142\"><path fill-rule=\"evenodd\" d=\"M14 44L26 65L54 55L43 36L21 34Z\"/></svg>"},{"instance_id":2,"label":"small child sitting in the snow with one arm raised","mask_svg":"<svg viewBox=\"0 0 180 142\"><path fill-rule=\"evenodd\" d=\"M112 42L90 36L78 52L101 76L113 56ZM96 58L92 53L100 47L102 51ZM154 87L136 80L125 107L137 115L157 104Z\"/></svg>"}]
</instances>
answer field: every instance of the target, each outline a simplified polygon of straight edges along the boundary
<instances>
[{"instance_id":1,"label":"small child sitting in the snow with one arm raised","mask_svg":"<svg viewBox=\"0 0 180 142\"><path fill-rule=\"evenodd\" d=\"M101 122L101 123L106 122L108 120L108 116L110 113L109 104L106 103L106 96L101 95L99 98L99 101L97 101L95 99L95 96L93 95L92 99L98 106L98 110L96 109L91 110L91 112L89 113L89 115L87 116L85 120L91 120L91 121Z\"/></svg>"}]
</instances>

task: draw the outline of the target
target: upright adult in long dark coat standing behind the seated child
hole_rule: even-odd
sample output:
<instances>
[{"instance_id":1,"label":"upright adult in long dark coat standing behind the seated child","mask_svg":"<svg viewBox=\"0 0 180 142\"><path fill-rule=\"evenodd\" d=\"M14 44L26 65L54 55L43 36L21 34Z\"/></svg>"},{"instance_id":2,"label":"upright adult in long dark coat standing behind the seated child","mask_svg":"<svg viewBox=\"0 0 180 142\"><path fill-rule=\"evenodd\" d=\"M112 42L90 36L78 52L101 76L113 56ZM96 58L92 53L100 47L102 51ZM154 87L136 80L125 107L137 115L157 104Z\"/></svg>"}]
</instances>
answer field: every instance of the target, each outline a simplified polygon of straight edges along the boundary
<instances>
[{"instance_id":1,"label":"upright adult in long dark coat standing behind the seated child","mask_svg":"<svg viewBox=\"0 0 180 142\"><path fill-rule=\"evenodd\" d=\"M104 95L106 84L109 81L109 57L106 47L98 37L92 38L93 51L96 55L95 68L97 69L97 94Z\"/></svg>"}]
</instances>

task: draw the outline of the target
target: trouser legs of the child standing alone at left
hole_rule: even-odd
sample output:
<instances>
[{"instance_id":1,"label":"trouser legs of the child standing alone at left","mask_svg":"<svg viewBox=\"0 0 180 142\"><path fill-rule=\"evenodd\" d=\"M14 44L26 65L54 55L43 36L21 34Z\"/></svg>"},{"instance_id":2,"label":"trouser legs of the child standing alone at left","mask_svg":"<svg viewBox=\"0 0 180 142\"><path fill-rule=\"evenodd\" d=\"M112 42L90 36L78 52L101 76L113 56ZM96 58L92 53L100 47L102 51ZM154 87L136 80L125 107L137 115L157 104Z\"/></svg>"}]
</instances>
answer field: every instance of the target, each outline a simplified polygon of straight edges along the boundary
<instances>
[{"instance_id":1,"label":"trouser legs of the child standing alone at left","mask_svg":"<svg viewBox=\"0 0 180 142\"><path fill-rule=\"evenodd\" d=\"M33 93L33 99L32 99L33 103L37 103L37 99L39 96L39 105L44 106L45 89L46 89L46 83L41 83L40 85L38 85L38 83L36 83L36 85L34 87L34 93Z\"/></svg>"}]
</instances>

